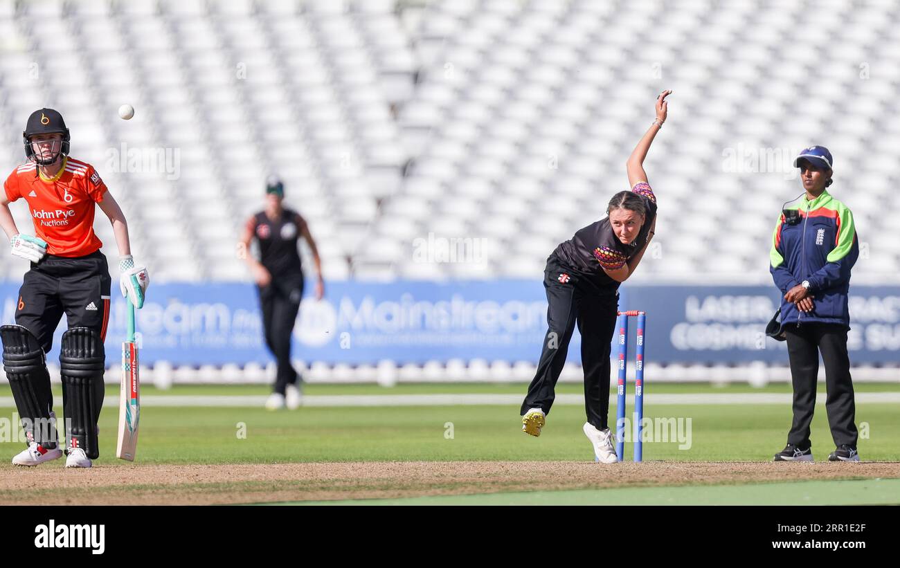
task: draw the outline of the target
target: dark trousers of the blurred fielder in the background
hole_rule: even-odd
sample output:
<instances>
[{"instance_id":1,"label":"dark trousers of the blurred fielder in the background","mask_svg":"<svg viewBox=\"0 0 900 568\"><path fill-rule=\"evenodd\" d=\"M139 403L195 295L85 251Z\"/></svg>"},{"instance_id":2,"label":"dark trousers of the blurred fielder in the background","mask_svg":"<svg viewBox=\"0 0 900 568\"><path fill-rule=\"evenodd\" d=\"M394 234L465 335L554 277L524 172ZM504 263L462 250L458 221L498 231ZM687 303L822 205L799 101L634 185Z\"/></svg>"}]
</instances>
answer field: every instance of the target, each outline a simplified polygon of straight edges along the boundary
<instances>
[{"instance_id":1,"label":"dark trousers of the blurred fielder in the background","mask_svg":"<svg viewBox=\"0 0 900 568\"><path fill-rule=\"evenodd\" d=\"M291 364L291 336L293 324L300 311L300 300L303 296L303 279L278 278L273 275L272 281L265 288L257 286L259 304L263 310L263 329L266 332L266 345L275 356L278 366L275 375L273 392L284 395L288 385L298 383L300 376Z\"/></svg>"}]
</instances>

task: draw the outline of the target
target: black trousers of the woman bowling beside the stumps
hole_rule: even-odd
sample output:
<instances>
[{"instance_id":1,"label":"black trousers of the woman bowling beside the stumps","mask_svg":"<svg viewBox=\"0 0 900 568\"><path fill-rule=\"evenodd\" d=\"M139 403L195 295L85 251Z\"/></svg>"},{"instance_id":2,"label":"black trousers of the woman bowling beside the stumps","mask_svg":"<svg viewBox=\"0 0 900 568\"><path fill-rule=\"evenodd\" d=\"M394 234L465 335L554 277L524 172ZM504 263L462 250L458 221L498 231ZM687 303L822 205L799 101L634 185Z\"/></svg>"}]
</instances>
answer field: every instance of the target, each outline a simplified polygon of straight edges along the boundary
<instances>
[{"instance_id":1,"label":"black trousers of the woman bowling beside the stumps","mask_svg":"<svg viewBox=\"0 0 900 568\"><path fill-rule=\"evenodd\" d=\"M616 332L618 295L589 278L572 274L554 256L544 272L547 294L547 333L535 378L528 386L521 414L531 408L550 412L554 388L563 371L575 325L581 333L584 370L584 406L588 422L599 430L608 427L609 352Z\"/></svg>"}]
</instances>

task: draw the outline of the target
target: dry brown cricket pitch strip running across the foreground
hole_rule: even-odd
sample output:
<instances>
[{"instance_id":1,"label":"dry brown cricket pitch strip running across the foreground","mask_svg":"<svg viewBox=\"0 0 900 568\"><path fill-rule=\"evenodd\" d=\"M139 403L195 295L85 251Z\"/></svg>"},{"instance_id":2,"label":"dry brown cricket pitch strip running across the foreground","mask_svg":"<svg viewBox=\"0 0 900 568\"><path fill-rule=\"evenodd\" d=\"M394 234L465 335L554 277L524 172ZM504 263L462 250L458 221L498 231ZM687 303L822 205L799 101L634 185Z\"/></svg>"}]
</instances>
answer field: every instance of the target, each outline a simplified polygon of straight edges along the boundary
<instances>
[{"instance_id":1,"label":"dry brown cricket pitch strip running across the foreground","mask_svg":"<svg viewBox=\"0 0 900 568\"><path fill-rule=\"evenodd\" d=\"M335 462L0 466L3 505L215 505L900 477L900 463ZM76 491L73 491L76 490Z\"/></svg>"}]
</instances>

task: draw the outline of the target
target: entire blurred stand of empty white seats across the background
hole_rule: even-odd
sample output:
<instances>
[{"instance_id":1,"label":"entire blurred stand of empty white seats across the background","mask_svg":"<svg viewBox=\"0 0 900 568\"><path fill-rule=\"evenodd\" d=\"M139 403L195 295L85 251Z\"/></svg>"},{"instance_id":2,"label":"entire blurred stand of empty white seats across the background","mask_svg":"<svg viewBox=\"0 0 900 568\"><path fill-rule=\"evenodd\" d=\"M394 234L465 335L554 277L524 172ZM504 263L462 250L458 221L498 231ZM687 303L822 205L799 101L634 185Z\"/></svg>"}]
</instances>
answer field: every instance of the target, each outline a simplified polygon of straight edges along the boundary
<instances>
[{"instance_id":1,"label":"entire blurred stand of empty white seats across the background","mask_svg":"<svg viewBox=\"0 0 900 568\"><path fill-rule=\"evenodd\" d=\"M764 282L800 148L831 148L862 242L898 209L900 9L816 5L2 0L0 167L23 161L28 113L58 108L157 281L246 280L234 242L268 173L310 220L328 279L539 278L626 186L671 88L646 163L657 248L635 280ZM823 33L791 33L801 24ZM429 233L482 239L486 262L414 262ZM174 241L188 246L159 245ZM865 250L858 281L896 274L895 240ZM0 267L24 271L5 250Z\"/></svg>"}]
</instances>

